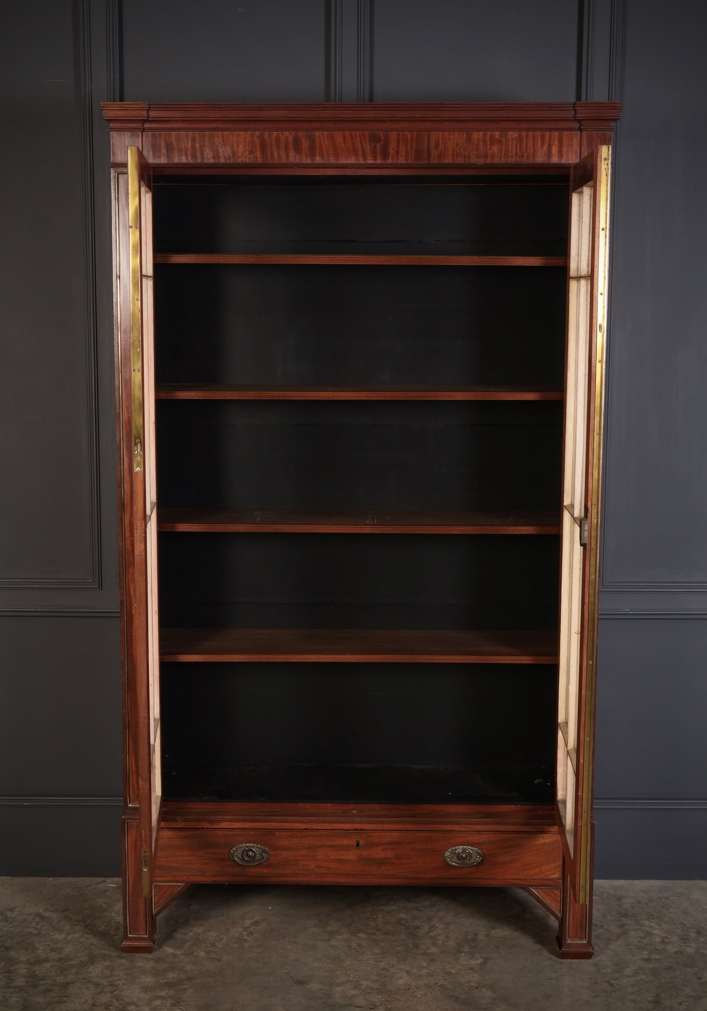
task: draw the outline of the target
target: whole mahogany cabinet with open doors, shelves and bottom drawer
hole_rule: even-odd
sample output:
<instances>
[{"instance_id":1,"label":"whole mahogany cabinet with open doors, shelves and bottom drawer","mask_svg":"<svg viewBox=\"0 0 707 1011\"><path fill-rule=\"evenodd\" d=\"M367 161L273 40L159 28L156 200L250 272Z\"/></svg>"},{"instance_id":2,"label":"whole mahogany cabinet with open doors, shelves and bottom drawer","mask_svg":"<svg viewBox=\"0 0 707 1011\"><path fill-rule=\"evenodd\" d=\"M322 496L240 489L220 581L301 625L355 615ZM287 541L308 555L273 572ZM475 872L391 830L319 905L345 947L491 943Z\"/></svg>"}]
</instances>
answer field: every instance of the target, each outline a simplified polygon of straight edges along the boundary
<instances>
[{"instance_id":1,"label":"whole mahogany cabinet with open doors, shelves and bottom drawer","mask_svg":"<svg viewBox=\"0 0 707 1011\"><path fill-rule=\"evenodd\" d=\"M123 949L513 885L589 957L614 103L106 103Z\"/></svg>"}]
</instances>

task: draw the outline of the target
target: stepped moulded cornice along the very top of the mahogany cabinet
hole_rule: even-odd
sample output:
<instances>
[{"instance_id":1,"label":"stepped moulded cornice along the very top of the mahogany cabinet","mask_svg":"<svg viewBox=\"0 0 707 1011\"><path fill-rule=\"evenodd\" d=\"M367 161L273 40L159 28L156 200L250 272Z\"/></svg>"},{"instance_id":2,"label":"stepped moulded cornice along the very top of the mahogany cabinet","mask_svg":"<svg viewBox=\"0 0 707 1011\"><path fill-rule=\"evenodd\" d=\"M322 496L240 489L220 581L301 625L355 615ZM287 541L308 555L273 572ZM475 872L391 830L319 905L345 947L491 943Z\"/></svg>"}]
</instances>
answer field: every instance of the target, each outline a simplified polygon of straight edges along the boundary
<instances>
[{"instance_id":1,"label":"stepped moulded cornice along the very top of the mahogany cabinet","mask_svg":"<svg viewBox=\"0 0 707 1011\"><path fill-rule=\"evenodd\" d=\"M111 129L312 126L613 129L620 102L101 102Z\"/></svg>"}]
</instances>

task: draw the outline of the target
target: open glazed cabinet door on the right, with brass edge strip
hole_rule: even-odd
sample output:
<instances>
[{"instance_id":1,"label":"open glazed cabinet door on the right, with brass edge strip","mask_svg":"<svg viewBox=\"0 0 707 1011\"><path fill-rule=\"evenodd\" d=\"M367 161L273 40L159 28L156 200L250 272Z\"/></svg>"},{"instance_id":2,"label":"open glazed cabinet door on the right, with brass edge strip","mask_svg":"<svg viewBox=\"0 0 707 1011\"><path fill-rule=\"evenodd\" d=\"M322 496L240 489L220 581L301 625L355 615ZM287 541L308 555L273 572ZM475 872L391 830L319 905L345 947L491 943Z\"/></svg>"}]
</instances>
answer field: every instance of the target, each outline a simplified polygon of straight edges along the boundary
<instances>
[{"instance_id":1,"label":"open glazed cabinet door on the right, with brass edge strip","mask_svg":"<svg viewBox=\"0 0 707 1011\"><path fill-rule=\"evenodd\" d=\"M570 186L557 801L566 879L580 904L590 902L592 877L610 164L611 148L595 148Z\"/></svg>"}]
</instances>

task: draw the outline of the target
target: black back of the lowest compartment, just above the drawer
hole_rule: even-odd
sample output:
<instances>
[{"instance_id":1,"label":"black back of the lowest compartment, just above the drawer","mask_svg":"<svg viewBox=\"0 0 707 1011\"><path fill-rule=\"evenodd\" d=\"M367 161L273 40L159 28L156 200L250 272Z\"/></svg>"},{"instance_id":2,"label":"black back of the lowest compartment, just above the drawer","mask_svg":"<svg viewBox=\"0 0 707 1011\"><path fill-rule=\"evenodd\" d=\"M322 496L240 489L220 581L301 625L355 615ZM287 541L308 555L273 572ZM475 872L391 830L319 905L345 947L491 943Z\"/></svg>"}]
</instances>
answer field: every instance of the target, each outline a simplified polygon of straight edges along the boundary
<instances>
[{"instance_id":1,"label":"black back of the lowest compartment, just above the drawer","mask_svg":"<svg viewBox=\"0 0 707 1011\"><path fill-rule=\"evenodd\" d=\"M165 796L548 801L556 681L554 666L163 664Z\"/></svg>"}]
</instances>

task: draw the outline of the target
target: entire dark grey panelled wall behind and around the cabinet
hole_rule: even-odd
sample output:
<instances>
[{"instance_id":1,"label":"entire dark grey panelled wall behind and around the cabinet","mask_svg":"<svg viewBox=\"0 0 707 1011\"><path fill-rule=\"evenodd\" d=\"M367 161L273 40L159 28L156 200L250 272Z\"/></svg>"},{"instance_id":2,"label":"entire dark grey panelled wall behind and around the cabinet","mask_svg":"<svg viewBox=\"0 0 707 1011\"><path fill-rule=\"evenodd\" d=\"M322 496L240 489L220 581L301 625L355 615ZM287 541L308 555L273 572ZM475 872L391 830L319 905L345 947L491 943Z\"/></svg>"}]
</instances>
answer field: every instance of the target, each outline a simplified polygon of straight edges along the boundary
<instances>
[{"instance_id":1,"label":"entire dark grey panelled wall behind and around the cabinet","mask_svg":"<svg viewBox=\"0 0 707 1011\"><path fill-rule=\"evenodd\" d=\"M707 9L661 0L40 0L4 21L0 874L117 874L104 98L620 98L598 877L707 876ZM8 242L7 237L12 237Z\"/></svg>"}]
</instances>

